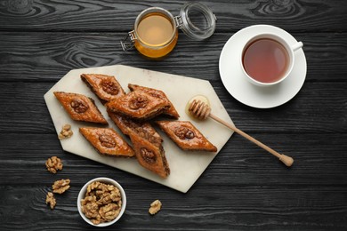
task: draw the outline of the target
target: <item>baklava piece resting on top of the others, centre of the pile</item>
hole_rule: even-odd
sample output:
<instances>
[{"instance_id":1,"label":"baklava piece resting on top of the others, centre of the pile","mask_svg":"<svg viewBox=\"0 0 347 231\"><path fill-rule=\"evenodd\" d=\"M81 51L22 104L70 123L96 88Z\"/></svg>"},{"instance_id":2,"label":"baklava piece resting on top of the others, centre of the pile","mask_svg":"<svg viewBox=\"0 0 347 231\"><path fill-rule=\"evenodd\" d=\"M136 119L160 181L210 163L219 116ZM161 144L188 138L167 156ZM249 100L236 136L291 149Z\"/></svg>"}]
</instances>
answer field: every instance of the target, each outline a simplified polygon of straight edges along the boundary
<instances>
[{"instance_id":1,"label":"baklava piece resting on top of the others, centre of the pile","mask_svg":"<svg viewBox=\"0 0 347 231\"><path fill-rule=\"evenodd\" d=\"M148 120L165 112L170 105L145 92L130 92L106 104L111 112L137 120Z\"/></svg>"}]
</instances>

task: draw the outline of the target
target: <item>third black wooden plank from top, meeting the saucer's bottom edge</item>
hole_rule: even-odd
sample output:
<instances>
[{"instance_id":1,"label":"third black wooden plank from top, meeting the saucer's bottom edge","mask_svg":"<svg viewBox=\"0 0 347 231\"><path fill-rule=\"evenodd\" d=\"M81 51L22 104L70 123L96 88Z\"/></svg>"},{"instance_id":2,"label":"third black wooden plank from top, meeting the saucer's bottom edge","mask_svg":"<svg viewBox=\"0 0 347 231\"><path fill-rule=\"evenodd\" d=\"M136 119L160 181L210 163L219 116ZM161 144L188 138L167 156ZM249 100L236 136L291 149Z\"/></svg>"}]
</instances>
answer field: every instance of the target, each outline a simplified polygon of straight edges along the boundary
<instances>
[{"instance_id":1,"label":"third black wooden plank from top, meeting the saucer's bottom edge","mask_svg":"<svg viewBox=\"0 0 347 231\"><path fill-rule=\"evenodd\" d=\"M83 84L81 82L81 84ZM55 133L44 103L53 83L0 83L0 126L3 132ZM295 98L278 108L246 107L232 98L222 84L213 82L224 108L246 132L346 132L346 83L310 83ZM96 99L95 99L96 100ZM181 106L184 107L185 102ZM16 125L13 131L13 124ZM324 126L322 125L324 124Z\"/></svg>"}]
</instances>

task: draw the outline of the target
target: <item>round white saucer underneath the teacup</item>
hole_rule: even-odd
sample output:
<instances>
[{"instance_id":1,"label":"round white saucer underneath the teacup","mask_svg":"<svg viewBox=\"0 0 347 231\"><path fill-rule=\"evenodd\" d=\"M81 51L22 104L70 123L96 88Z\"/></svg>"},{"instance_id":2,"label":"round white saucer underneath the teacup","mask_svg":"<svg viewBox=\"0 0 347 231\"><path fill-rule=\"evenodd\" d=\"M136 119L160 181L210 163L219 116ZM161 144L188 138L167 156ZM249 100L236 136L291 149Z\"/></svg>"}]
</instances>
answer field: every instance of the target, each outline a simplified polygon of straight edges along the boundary
<instances>
[{"instance_id":1,"label":"round white saucer underneath the teacup","mask_svg":"<svg viewBox=\"0 0 347 231\"><path fill-rule=\"evenodd\" d=\"M278 33L289 44L297 42L285 30L274 26L254 25L243 28L224 45L219 60L219 72L225 88L239 102L253 108L274 108L293 99L302 88L306 77L306 58L303 49L296 51L293 71L280 84L260 87L249 83L243 76L239 57L246 40L258 32Z\"/></svg>"}]
</instances>

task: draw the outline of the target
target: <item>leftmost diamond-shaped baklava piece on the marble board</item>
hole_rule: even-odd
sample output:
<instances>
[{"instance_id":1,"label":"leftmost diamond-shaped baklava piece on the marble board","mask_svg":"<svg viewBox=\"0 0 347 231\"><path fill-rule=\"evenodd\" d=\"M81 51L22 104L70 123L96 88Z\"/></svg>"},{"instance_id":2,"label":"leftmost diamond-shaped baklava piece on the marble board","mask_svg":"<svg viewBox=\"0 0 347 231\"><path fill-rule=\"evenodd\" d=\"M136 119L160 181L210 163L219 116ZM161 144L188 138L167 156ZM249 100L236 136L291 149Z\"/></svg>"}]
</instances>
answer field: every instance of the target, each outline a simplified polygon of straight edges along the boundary
<instances>
[{"instance_id":1,"label":"leftmost diamond-shaped baklava piece on the marble board","mask_svg":"<svg viewBox=\"0 0 347 231\"><path fill-rule=\"evenodd\" d=\"M96 107L94 100L82 94L53 92L73 120L108 124Z\"/></svg>"}]
</instances>

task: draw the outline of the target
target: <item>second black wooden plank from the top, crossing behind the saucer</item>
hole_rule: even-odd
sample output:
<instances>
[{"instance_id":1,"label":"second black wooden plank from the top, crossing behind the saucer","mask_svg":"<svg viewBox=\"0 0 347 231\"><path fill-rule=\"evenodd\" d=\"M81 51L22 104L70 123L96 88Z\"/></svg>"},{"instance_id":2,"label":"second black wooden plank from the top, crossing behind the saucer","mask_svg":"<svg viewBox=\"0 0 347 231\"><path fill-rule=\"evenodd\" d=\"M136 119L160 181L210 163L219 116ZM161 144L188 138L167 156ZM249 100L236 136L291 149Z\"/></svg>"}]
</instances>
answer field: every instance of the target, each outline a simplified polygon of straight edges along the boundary
<instances>
[{"instance_id":1,"label":"second black wooden plank from the top, crossing behind the saucer","mask_svg":"<svg viewBox=\"0 0 347 231\"><path fill-rule=\"evenodd\" d=\"M0 81L57 82L70 69L115 64L219 80L219 56L232 35L216 33L197 42L181 34L173 52L165 60L154 61L144 59L135 50L123 52L119 43L124 33L4 32L0 34ZM310 57L306 81L345 81L347 36L341 33L294 36L303 41L303 51Z\"/></svg>"}]
</instances>

